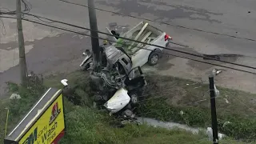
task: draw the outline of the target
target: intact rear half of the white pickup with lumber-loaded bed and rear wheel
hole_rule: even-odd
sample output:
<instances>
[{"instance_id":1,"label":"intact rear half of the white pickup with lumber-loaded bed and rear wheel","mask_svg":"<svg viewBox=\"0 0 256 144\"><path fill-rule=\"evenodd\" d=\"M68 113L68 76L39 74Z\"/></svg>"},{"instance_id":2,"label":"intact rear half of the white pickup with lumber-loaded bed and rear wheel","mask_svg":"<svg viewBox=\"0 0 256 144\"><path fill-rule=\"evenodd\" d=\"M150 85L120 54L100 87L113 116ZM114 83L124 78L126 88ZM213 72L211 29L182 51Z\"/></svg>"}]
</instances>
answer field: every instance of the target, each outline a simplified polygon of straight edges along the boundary
<instances>
[{"instance_id":1,"label":"intact rear half of the white pickup with lumber-loaded bed and rear wheel","mask_svg":"<svg viewBox=\"0 0 256 144\"><path fill-rule=\"evenodd\" d=\"M140 22L137 26L128 30L124 34L120 34L118 38L115 30L110 30L106 27L106 31L113 36L107 36L108 42L112 46L118 49L123 49L128 54L132 61L132 68L137 66L143 66L148 62L151 66L158 63L158 59L161 57L163 49L157 46L166 47L169 41L172 39L168 34L154 26L150 26L147 22ZM119 35L119 34L118 34ZM129 41L123 38L129 38L131 40L146 42L157 46L145 45L138 42Z\"/></svg>"}]
</instances>

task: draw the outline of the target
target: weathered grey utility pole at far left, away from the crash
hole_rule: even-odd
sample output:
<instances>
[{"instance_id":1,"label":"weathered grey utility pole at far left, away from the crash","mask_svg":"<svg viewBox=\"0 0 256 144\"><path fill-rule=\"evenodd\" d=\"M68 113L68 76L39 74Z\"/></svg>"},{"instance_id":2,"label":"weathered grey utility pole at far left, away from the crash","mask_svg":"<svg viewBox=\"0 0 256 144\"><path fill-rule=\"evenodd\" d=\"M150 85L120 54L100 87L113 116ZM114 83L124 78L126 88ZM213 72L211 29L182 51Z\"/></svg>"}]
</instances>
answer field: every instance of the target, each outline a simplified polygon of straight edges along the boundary
<instances>
[{"instance_id":1,"label":"weathered grey utility pole at far left, away from the crash","mask_svg":"<svg viewBox=\"0 0 256 144\"><path fill-rule=\"evenodd\" d=\"M22 2L21 0L16 0L16 14L17 14L17 29L18 29L18 53L19 53L19 66L22 78L22 85L26 85L26 55L24 38L22 32Z\"/></svg>"}]
</instances>

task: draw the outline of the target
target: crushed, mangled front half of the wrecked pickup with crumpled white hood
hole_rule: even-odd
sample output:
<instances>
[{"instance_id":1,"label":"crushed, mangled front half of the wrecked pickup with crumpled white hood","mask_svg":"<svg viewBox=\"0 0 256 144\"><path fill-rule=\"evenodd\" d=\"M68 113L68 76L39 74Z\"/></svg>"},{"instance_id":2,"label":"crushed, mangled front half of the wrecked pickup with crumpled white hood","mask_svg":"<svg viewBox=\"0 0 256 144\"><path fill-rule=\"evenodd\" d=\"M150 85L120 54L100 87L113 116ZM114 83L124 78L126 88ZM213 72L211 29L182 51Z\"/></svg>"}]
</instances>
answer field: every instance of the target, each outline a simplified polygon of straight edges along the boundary
<instances>
[{"instance_id":1,"label":"crushed, mangled front half of the wrecked pickup with crumpled white hood","mask_svg":"<svg viewBox=\"0 0 256 144\"><path fill-rule=\"evenodd\" d=\"M146 80L140 66L132 68L131 58L121 48L101 46L102 70L93 71L93 56L86 50L82 62L84 70L90 71L91 88L94 93L94 106L105 106L110 114L134 117L138 100L142 97ZM82 65L80 65L82 66Z\"/></svg>"}]
</instances>

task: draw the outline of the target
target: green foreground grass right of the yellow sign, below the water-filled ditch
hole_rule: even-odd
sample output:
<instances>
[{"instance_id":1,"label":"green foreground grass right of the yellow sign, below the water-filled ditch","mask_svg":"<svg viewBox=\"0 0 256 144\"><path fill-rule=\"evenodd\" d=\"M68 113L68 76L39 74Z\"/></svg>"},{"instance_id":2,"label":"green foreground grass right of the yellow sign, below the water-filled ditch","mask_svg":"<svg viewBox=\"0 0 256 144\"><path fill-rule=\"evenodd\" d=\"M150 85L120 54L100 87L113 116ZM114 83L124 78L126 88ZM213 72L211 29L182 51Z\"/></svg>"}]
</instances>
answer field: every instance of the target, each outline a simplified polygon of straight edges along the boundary
<instances>
[{"instance_id":1,"label":"green foreground grass right of the yellow sign, below the water-filled ditch","mask_svg":"<svg viewBox=\"0 0 256 144\"><path fill-rule=\"evenodd\" d=\"M70 105L71 106L71 105ZM146 125L127 125L123 128L111 126L111 121L106 113L82 106L71 106L66 112L66 136L62 144L70 143L198 143L210 144L204 134L191 134L184 130L166 130ZM242 143L225 139L222 143Z\"/></svg>"}]
</instances>

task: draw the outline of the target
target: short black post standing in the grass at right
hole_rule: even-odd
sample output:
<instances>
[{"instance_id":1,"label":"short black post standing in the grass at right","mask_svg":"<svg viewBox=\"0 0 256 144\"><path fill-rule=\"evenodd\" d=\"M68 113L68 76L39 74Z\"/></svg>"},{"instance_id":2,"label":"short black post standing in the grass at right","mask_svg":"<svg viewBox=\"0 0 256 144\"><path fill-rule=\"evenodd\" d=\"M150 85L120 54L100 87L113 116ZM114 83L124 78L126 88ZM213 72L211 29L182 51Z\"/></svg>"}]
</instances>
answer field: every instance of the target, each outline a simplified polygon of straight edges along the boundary
<instances>
[{"instance_id":1,"label":"short black post standing in the grass at right","mask_svg":"<svg viewBox=\"0 0 256 144\"><path fill-rule=\"evenodd\" d=\"M210 82L210 110L211 110L211 128L213 129L213 142L218 144L218 122L215 106L214 76L209 76Z\"/></svg>"}]
</instances>

